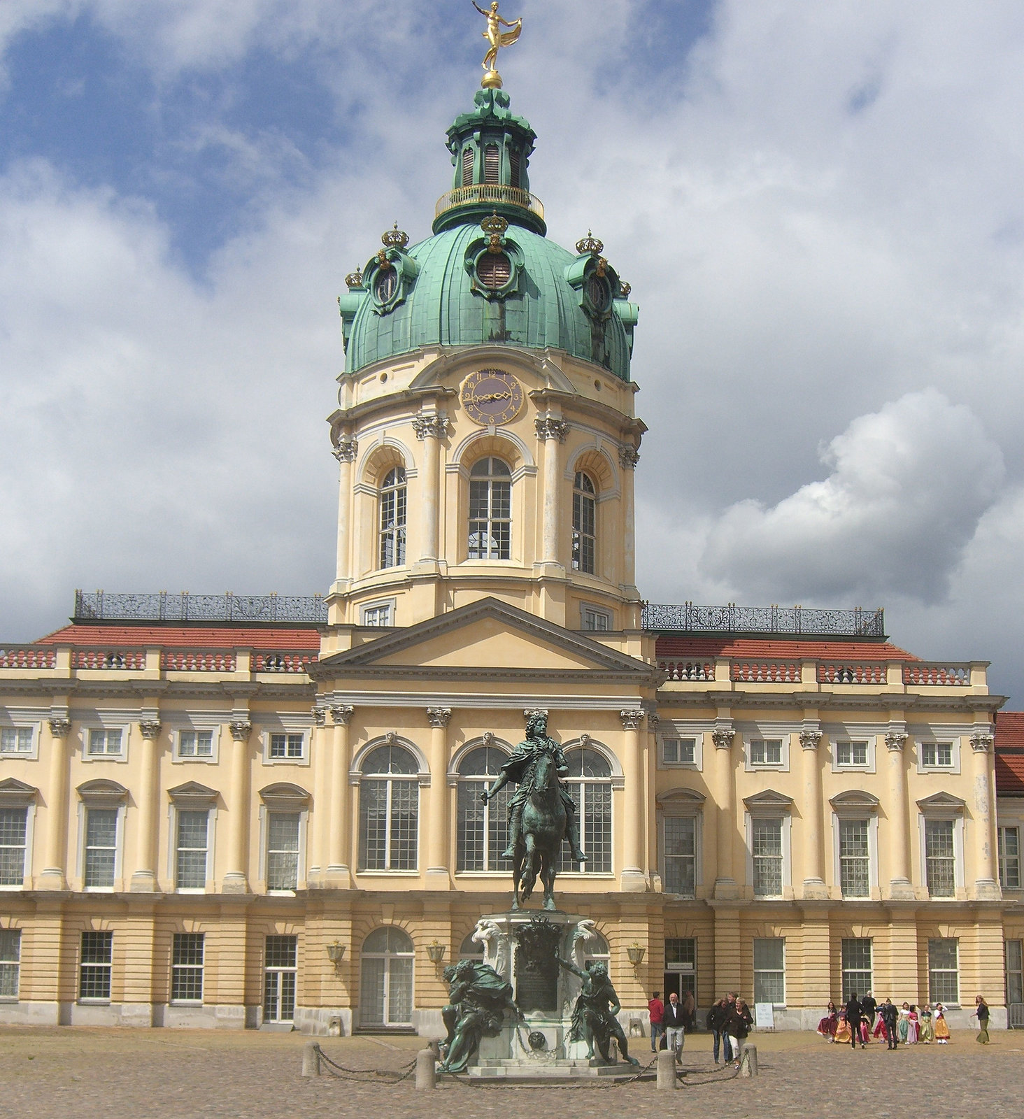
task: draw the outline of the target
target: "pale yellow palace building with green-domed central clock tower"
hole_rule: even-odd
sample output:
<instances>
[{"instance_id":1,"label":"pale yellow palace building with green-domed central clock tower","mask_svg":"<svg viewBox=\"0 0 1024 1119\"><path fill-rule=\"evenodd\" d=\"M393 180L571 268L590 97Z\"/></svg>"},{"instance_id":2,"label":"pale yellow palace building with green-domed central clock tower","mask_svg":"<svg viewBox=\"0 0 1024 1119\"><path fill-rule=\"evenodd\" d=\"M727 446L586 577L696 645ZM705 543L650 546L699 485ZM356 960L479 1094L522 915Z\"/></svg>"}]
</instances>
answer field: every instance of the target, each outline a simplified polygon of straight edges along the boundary
<instances>
[{"instance_id":1,"label":"pale yellow palace building with green-domed central clock tower","mask_svg":"<svg viewBox=\"0 0 1024 1119\"><path fill-rule=\"evenodd\" d=\"M1024 727L997 771L986 665L881 611L641 600L638 308L546 237L534 140L478 91L432 235L347 278L322 599L79 593L0 650L0 1022L438 1034L510 903L510 790L478 794L534 709L626 1017L1024 1004Z\"/></svg>"}]
</instances>

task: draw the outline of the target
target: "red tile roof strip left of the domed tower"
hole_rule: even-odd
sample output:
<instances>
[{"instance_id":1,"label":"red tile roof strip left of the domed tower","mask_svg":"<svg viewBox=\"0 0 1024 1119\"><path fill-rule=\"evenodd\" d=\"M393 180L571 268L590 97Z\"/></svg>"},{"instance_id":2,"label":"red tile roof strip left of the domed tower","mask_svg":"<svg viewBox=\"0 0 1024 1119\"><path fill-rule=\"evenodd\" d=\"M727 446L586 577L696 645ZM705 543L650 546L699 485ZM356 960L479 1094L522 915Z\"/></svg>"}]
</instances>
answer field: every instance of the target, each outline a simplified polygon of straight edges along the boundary
<instances>
[{"instance_id":1,"label":"red tile roof strip left of the domed tower","mask_svg":"<svg viewBox=\"0 0 1024 1119\"><path fill-rule=\"evenodd\" d=\"M163 649L320 649L314 629L267 626L65 626L40 637L37 645L160 647Z\"/></svg>"}]
</instances>

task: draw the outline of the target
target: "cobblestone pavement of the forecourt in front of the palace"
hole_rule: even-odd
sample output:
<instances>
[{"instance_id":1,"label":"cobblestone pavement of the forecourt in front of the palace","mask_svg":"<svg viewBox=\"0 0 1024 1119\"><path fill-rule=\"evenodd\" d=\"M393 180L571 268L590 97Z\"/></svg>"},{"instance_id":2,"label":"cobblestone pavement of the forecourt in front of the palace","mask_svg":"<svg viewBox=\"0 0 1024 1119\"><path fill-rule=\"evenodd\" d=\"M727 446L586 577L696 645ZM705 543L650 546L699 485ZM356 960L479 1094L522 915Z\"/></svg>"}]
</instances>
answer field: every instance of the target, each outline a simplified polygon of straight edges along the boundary
<instances>
[{"instance_id":1,"label":"cobblestone pavement of the forecourt in front of the palace","mask_svg":"<svg viewBox=\"0 0 1024 1119\"><path fill-rule=\"evenodd\" d=\"M299 1034L171 1029L0 1028L0 1116L19 1119L236 1119L387 1115L394 1119L527 1119L572 1107L601 1115L661 1117L666 1111L785 1119L852 1113L885 1119L923 1112L957 1119L1016 1108L1024 1098L1024 1033L993 1032L977 1045L955 1033L948 1046L829 1045L814 1034L760 1035L761 1075L722 1080L706 1034L687 1038L691 1085L675 1096L638 1082L611 1088L468 1088L441 1081L417 1092L412 1080L364 1083L302 1079ZM397 1070L415 1055L415 1037L321 1038L325 1053L350 1068ZM646 1042L637 1049L646 1063ZM701 1081L702 1083L697 1083ZM785 1109L785 1110L783 1110Z\"/></svg>"}]
</instances>

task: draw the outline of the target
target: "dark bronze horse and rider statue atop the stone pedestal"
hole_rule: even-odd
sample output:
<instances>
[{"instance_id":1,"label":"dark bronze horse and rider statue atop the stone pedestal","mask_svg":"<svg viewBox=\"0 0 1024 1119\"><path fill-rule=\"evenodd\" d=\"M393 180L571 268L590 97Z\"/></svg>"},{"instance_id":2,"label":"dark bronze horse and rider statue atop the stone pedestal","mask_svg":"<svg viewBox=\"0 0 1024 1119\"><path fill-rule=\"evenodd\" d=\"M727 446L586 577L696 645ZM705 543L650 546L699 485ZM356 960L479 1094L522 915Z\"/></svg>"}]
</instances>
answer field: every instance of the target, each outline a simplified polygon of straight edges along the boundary
<instances>
[{"instance_id":1,"label":"dark bronze horse and rider statue atop the stone pedestal","mask_svg":"<svg viewBox=\"0 0 1024 1119\"><path fill-rule=\"evenodd\" d=\"M547 713L535 711L526 721L526 741L501 765L498 780L480 793L487 803L509 781L518 786L508 803L508 848L501 856L513 859L514 910L530 896L538 877L544 908L555 909L563 838L572 847L573 862L586 861L580 849L576 805L560 780L567 772L562 747L547 736Z\"/></svg>"}]
</instances>

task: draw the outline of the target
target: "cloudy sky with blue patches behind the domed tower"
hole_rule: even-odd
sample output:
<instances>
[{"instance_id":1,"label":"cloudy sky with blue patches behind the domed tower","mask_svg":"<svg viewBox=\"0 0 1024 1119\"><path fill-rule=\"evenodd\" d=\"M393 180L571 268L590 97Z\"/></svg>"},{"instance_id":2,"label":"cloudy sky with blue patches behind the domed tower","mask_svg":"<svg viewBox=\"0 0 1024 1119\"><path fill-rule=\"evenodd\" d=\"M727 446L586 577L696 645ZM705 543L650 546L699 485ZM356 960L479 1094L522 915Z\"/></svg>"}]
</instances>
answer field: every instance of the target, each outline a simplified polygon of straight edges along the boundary
<instances>
[{"instance_id":1,"label":"cloudy sky with blue patches behind the domed tower","mask_svg":"<svg viewBox=\"0 0 1024 1119\"><path fill-rule=\"evenodd\" d=\"M1024 11L502 0L548 236L640 304L638 584L885 606L1024 706ZM333 571L336 298L430 233L469 0L0 2L0 634Z\"/></svg>"}]
</instances>

